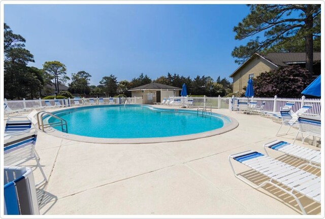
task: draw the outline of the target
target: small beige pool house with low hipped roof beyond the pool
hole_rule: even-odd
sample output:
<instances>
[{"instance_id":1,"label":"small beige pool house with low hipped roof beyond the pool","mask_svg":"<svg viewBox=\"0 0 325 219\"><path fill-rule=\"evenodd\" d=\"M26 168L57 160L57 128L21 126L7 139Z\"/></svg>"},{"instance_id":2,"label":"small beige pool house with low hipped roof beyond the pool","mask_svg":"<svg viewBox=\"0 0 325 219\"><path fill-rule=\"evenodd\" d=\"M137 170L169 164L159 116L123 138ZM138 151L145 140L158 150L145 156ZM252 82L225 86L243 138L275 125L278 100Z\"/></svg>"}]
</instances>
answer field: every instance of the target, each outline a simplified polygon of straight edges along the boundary
<instances>
[{"instance_id":1,"label":"small beige pool house with low hipped roof beyond the pool","mask_svg":"<svg viewBox=\"0 0 325 219\"><path fill-rule=\"evenodd\" d=\"M179 96L180 90L182 90L182 88L159 83L150 83L129 89L128 91L132 92L132 97L142 97L143 104L153 104L154 102L161 102L161 100L170 96Z\"/></svg>"}]
</instances>

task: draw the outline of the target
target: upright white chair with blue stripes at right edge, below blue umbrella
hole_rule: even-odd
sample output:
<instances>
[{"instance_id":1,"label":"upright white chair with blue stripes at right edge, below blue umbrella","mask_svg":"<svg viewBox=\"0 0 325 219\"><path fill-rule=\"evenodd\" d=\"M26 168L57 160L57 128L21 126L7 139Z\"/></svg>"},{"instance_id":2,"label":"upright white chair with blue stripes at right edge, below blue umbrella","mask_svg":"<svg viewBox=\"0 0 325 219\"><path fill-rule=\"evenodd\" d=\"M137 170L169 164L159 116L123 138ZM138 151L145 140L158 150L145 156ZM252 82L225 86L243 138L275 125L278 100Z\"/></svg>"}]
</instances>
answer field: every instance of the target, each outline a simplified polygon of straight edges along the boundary
<instances>
[{"instance_id":1,"label":"upright white chair with blue stripes at right edge, below blue umbrella","mask_svg":"<svg viewBox=\"0 0 325 219\"><path fill-rule=\"evenodd\" d=\"M313 136L314 139L314 146L316 146L316 137L321 138L321 121L319 115L309 114L304 115L302 113L298 113L298 124L299 130L296 134L294 143L297 139L299 133L303 136L303 134L307 134L306 137L309 135ZM302 137L302 141L304 143L306 137Z\"/></svg>"}]
</instances>

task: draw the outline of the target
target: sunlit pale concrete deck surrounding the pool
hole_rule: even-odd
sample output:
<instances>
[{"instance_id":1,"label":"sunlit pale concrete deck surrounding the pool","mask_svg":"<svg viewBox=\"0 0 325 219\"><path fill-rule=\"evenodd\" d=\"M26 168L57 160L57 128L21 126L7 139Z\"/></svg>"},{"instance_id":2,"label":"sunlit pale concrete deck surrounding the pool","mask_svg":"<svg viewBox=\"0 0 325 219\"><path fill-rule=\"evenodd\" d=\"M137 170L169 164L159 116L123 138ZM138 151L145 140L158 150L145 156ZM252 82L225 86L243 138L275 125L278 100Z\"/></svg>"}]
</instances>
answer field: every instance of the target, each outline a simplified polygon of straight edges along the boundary
<instances>
[{"instance_id":1,"label":"sunlit pale concrete deck surrounding the pool","mask_svg":"<svg viewBox=\"0 0 325 219\"><path fill-rule=\"evenodd\" d=\"M235 118L239 126L205 138L142 144L81 142L39 131L36 149L48 177L37 189L41 214L301 214L295 200L275 187L255 190L237 179L228 161L230 154L246 150L264 153L262 145L275 139L293 142L296 130L276 137L280 124L269 118L212 111ZM319 150L309 141L296 143ZM291 165L303 163L279 152L269 154ZM35 161L27 164L35 167ZM263 178L244 165L234 167L253 182ZM306 170L320 175L317 169ZM42 178L38 169L34 176ZM320 204L300 200L308 214L320 214Z\"/></svg>"}]
</instances>

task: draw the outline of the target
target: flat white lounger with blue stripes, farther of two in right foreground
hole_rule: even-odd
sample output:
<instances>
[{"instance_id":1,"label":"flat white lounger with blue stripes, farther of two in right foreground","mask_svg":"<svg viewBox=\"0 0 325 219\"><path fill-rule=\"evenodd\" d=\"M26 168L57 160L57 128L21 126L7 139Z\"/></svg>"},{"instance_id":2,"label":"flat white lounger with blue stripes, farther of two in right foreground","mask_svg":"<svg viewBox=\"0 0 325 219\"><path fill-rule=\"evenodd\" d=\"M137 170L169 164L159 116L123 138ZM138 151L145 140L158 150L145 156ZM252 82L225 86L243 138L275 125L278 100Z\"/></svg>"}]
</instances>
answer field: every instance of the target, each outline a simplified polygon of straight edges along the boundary
<instances>
[{"instance_id":1,"label":"flat white lounger with blue stripes, farther of two in right foreground","mask_svg":"<svg viewBox=\"0 0 325 219\"><path fill-rule=\"evenodd\" d=\"M299 158L301 160L309 162L300 165L298 168L301 168L305 165L311 165L313 167L320 168L320 151L309 149L306 147L299 146L297 144L292 144L281 140L274 140L264 144L264 150L268 154L267 149L279 151L291 157Z\"/></svg>"}]
</instances>

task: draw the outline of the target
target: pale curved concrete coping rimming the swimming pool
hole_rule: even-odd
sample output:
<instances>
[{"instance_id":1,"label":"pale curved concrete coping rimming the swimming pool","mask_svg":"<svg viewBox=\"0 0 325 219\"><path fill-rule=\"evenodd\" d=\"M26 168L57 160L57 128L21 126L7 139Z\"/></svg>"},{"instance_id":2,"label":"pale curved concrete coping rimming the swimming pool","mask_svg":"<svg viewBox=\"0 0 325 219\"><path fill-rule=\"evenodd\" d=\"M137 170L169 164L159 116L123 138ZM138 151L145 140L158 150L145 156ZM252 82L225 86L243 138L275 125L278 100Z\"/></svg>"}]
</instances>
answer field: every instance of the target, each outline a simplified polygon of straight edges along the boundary
<instances>
[{"instance_id":1,"label":"pale curved concrete coping rimming the swimming pool","mask_svg":"<svg viewBox=\"0 0 325 219\"><path fill-rule=\"evenodd\" d=\"M114 104L114 105L121 105L121 104ZM145 106L150 106L153 108L158 108L158 109L166 109L165 107L159 107L157 106L152 106L152 105L146 105ZM94 105L89 105L89 106L94 106ZM71 109L77 108L77 107L87 107L87 106L76 106L76 107L69 107ZM179 109L183 110L183 108L175 108L171 107L169 109ZM64 109L63 109L64 110ZM190 111L190 110L197 110L197 109L185 109L185 111ZM58 110L58 111L62 111ZM52 111L51 113L54 113L57 111ZM215 114L215 113L214 113ZM208 115L208 114L207 114ZM222 114L219 114L222 116ZM211 131L206 131L206 132L201 132L197 134L188 134L188 135L179 135L179 136L171 136L171 137L153 137L153 138L98 138L98 137L87 137L87 136L81 136L81 135L75 135L75 134L70 134L70 133L64 133L61 131L58 131L54 128L47 128L44 132L56 137L64 138L64 139L69 139L69 140L75 140L75 141L81 141L81 142L89 142L89 143L107 143L107 144L141 144L141 143L160 143L160 142L177 142L177 141L185 141L185 140L194 140L194 139L199 139L199 138L205 138L205 137L210 137L214 135L219 135L225 132L229 132L239 126L239 123L236 119L230 116L224 116L228 119L230 119L230 123L223 126L222 128L218 128L215 130Z\"/></svg>"}]
</instances>

